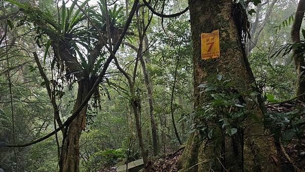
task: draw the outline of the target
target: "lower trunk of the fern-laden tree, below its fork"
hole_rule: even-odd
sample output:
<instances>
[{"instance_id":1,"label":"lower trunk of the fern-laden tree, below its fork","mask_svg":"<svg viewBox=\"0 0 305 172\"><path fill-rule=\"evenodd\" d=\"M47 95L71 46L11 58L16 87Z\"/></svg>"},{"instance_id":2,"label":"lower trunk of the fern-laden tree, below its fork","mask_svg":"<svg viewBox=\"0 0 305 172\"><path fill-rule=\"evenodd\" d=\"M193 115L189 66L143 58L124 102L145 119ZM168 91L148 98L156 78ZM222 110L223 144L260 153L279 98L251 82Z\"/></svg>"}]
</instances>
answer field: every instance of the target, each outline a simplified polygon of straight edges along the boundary
<instances>
[{"instance_id":1,"label":"lower trunk of the fern-laden tree, below its fork","mask_svg":"<svg viewBox=\"0 0 305 172\"><path fill-rule=\"evenodd\" d=\"M78 92L73 112L81 105L94 82L87 79L82 79L78 82ZM79 171L79 137L85 124L86 112L87 106L84 106L78 116L69 125L68 131L66 131L67 135L64 135L59 160L60 171Z\"/></svg>"}]
</instances>

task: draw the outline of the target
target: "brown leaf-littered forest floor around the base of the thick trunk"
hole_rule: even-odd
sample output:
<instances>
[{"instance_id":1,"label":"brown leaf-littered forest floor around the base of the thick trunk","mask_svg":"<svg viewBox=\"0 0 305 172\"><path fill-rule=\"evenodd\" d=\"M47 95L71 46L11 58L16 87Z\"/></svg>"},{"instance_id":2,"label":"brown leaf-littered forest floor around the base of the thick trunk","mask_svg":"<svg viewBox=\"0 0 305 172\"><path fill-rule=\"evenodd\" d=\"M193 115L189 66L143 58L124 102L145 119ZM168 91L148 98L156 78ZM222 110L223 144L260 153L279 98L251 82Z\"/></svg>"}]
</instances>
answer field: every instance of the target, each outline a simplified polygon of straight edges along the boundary
<instances>
[{"instance_id":1,"label":"brown leaf-littered forest floor around the base of the thick trunk","mask_svg":"<svg viewBox=\"0 0 305 172\"><path fill-rule=\"evenodd\" d=\"M289 102L283 102L280 104L269 104L266 105L268 112L287 113L292 112L296 109L301 108L305 111L305 104L294 100ZM303 119L305 115L303 115ZM303 124L303 127L305 124ZM152 167L151 171L177 171L177 161L181 156L183 148L178 149L174 153L162 154L157 157L150 159L149 165ZM283 157L272 157L272 159L280 164L293 164L296 171L305 171L305 131L303 132L301 141L296 138L286 146L281 146ZM284 153L283 153L284 152ZM280 162L279 159L284 159L284 162ZM283 160L282 160L283 161ZM107 169L100 170L99 172L115 172L115 167L109 167Z\"/></svg>"}]
</instances>

